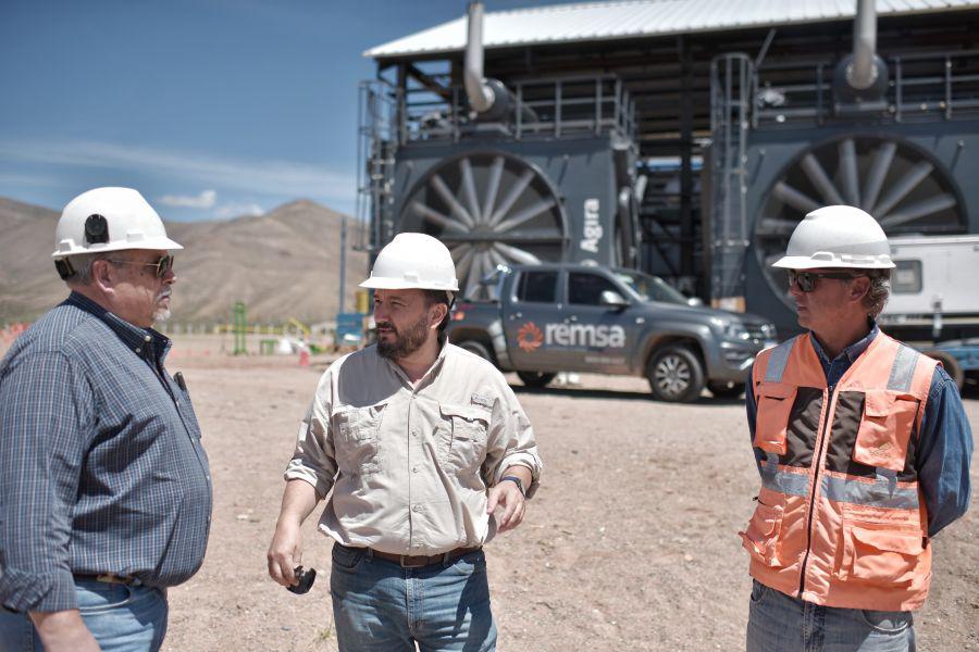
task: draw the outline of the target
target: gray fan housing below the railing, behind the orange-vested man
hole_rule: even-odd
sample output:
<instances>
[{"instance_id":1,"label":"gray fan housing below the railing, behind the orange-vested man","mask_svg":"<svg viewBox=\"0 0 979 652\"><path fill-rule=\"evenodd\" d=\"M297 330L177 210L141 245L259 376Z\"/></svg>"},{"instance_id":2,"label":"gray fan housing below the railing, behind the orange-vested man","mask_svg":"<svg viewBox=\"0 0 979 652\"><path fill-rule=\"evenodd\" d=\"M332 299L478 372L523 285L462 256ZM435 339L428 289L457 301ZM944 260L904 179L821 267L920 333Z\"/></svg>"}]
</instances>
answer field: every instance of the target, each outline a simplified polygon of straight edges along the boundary
<instances>
[{"instance_id":1,"label":"gray fan housing below the railing, behind the orange-vested man","mask_svg":"<svg viewBox=\"0 0 979 652\"><path fill-rule=\"evenodd\" d=\"M794 303L784 271L770 265L818 205L862 206L889 236L979 233L979 122L759 130L747 164L747 309L773 318L780 333L795 325ZM963 281L976 272L963 269Z\"/></svg>"}]
</instances>

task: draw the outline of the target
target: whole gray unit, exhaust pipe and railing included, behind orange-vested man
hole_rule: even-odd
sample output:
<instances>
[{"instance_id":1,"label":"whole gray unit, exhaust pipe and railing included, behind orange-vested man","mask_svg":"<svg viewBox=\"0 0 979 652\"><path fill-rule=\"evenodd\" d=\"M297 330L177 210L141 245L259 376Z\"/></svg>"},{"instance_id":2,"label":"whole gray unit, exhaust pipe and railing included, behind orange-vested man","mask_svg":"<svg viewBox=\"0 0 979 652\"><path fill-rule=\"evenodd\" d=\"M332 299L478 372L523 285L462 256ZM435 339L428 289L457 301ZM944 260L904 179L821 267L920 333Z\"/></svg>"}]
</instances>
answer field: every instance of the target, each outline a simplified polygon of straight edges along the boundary
<instances>
[{"instance_id":1,"label":"whole gray unit, exhaust pipe and railing included, behind orange-vested man","mask_svg":"<svg viewBox=\"0 0 979 652\"><path fill-rule=\"evenodd\" d=\"M979 233L979 57L884 60L875 25L860 0L853 54L834 64L732 53L711 66L711 299L785 336L794 301L771 263L810 211L859 206L890 237Z\"/></svg>"}]
</instances>

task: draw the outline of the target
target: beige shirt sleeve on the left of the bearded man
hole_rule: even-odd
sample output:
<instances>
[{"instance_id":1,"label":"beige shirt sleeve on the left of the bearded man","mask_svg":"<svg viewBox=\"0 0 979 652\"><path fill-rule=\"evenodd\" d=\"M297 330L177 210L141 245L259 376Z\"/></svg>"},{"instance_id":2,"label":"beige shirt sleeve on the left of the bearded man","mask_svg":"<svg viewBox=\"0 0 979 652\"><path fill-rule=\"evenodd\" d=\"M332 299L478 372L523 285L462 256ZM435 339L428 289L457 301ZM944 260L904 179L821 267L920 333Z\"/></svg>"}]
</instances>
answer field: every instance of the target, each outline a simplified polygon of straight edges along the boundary
<instances>
[{"instance_id":1,"label":"beige shirt sleeve on the left of the bearded man","mask_svg":"<svg viewBox=\"0 0 979 652\"><path fill-rule=\"evenodd\" d=\"M326 498L336 476L336 459L330 415L333 405L333 373L327 369L312 404L299 425L296 449L286 467L286 480L306 480L317 489L317 497Z\"/></svg>"}]
</instances>

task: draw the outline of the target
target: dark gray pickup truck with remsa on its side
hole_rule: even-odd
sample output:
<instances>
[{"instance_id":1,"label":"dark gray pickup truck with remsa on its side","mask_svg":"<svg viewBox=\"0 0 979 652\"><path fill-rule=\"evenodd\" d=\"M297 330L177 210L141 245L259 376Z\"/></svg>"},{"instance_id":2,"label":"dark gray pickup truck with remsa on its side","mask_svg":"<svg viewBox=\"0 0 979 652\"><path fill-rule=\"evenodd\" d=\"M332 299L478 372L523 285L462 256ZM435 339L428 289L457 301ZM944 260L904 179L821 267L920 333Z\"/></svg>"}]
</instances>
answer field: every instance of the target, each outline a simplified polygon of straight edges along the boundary
<instances>
[{"instance_id":1,"label":"dark gray pickup truck with remsa on its side","mask_svg":"<svg viewBox=\"0 0 979 652\"><path fill-rule=\"evenodd\" d=\"M744 391L755 355L776 343L761 317L697 305L635 269L570 263L500 266L495 301L460 300L449 341L544 387L557 372L645 376L661 401Z\"/></svg>"}]
</instances>

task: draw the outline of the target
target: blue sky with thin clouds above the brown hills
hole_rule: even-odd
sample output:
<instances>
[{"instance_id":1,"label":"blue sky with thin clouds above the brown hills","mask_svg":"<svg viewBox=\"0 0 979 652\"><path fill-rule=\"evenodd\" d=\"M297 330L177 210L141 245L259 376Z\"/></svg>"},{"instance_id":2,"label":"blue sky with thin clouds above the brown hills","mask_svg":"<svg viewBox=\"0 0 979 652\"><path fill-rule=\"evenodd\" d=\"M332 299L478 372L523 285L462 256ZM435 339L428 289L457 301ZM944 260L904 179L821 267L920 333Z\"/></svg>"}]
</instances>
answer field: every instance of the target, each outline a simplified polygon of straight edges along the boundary
<instances>
[{"instance_id":1,"label":"blue sky with thin clouds above the brown hills","mask_svg":"<svg viewBox=\"0 0 979 652\"><path fill-rule=\"evenodd\" d=\"M553 0L552 0L553 1ZM487 10L538 4L488 0ZM463 0L0 0L0 197L98 186L166 220L352 213L361 53Z\"/></svg>"}]
</instances>

